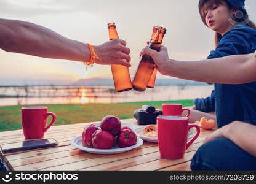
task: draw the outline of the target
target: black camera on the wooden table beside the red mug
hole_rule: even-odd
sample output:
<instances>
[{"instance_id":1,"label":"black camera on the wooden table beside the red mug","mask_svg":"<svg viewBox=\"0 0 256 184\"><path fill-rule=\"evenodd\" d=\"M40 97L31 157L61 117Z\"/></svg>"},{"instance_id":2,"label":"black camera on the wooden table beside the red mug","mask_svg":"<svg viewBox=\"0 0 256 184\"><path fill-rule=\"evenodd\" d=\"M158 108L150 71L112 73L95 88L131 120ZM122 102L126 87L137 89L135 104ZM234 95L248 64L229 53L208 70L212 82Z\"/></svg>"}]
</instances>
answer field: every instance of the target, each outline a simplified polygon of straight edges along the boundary
<instances>
[{"instance_id":1,"label":"black camera on the wooden table beside the red mug","mask_svg":"<svg viewBox=\"0 0 256 184\"><path fill-rule=\"evenodd\" d=\"M134 118L138 121L138 125L156 124L158 115L162 115L162 110L151 105L142 105L142 109L134 111Z\"/></svg>"}]
</instances>

